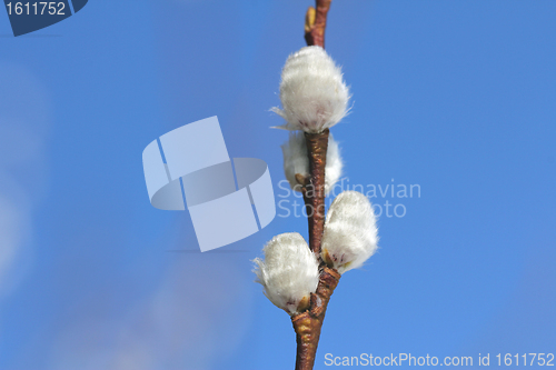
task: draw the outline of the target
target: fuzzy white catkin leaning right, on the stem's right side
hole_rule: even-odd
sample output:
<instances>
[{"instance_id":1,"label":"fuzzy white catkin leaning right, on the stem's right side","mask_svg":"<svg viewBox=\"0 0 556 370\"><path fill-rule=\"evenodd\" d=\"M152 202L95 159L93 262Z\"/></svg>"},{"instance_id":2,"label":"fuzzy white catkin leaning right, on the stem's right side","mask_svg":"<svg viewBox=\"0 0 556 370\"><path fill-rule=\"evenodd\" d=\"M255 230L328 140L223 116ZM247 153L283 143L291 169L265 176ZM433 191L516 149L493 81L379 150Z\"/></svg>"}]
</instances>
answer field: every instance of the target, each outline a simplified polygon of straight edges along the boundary
<instances>
[{"instance_id":1,"label":"fuzzy white catkin leaning right, on the stem's right side","mask_svg":"<svg viewBox=\"0 0 556 370\"><path fill-rule=\"evenodd\" d=\"M356 269L378 249L375 212L367 197L344 191L326 216L321 256L339 273Z\"/></svg>"}]
</instances>

